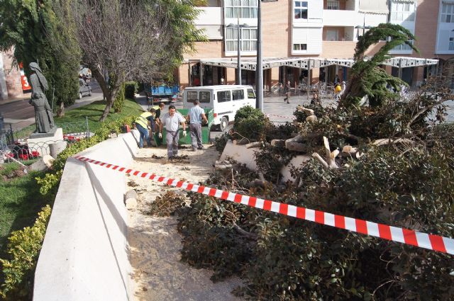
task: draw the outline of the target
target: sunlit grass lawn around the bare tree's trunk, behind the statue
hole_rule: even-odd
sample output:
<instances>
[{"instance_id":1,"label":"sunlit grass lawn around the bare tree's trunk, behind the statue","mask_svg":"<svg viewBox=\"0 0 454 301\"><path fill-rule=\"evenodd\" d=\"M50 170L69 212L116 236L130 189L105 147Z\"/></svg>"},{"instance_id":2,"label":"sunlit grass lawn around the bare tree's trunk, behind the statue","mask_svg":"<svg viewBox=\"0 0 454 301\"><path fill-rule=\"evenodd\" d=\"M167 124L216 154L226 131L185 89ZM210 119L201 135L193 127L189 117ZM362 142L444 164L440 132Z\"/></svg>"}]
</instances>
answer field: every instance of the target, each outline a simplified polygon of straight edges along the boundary
<instances>
[{"instance_id":1,"label":"sunlit grass lawn around the bare tree's trunk, behind the statue","mask_svg":"<svg viewBox=\"0 0 454 301\"><path fill-rule=\"evenodd\" d=\"M101 127L99 118L101 117L104 108L106 108L105 101L95 101L87 106L74 108L74 110L67 110L65 111L65 116L62 118L55 118L55 124L63 128L63 133L85 132L87 129L85 116L87 116L89 130L90 132L95 132ZM142 108L135 101L126 99L121 113L114 113L114 109L112 108L111 113L107 116L105 122L109 123L110 121L121 119L128 115L140 115L142 112ZM34 130L35 125L24 127L22 130L15 133L14 138L27 138Z\"/></svg>"}]
</instances>

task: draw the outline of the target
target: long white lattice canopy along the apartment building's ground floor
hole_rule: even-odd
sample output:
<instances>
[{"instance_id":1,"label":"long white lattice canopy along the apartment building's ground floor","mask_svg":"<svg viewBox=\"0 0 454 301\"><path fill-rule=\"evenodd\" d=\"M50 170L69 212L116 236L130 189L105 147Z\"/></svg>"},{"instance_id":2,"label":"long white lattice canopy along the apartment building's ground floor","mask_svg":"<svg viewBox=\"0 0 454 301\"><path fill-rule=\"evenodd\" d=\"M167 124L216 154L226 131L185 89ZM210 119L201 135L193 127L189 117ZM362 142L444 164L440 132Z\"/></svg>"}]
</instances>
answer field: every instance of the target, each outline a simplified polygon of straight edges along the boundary
<instances>
[{"instance_id":1,"label":"long white lattice canopy along the apartment building's ground floor","mask_svg":"<svg viewBox=\"0 0 454 301\"><path fill-rule=\"evenodd\" d=\"M367 58L366 58L367 59ZM190 59L190 64L206 64L211 66L237 68L238 62L236 57L218 58L218 59ZM241 69L255 71L257 59L255 57L242 57ZM263 59L263 69L271 69L274 67L288 66L298 69L316 69L328 66L352 67L355 64L353 59L324 59L321 57L267 57ZM386 59L382 64L392 67L421 67L433 64L438 64L438 59L421 59L417 57L392 57Z\"/></svg>"}]
</instances>

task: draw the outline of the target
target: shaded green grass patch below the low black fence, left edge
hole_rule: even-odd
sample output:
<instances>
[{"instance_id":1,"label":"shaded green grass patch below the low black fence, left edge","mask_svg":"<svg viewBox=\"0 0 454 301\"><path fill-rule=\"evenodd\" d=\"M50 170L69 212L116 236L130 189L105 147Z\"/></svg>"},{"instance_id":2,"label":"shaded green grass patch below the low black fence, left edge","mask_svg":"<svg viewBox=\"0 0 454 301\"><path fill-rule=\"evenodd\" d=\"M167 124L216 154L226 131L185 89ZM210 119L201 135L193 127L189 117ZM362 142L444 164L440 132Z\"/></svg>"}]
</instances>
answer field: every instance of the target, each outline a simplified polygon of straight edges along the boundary
<instances>
[{"instance_id":1,"label":"shaded green grass patch below the low black fence, left edge","mask_svg":"<svg viewBox=\"0 0 454 301\"><path fill-rule=\"evenodd\" d=\"M33 161L24 161L31 164ZM0 164L0 257L4 258L7 238L12 231L32 226L38 212L49 203L40 194L35 176L43 173L31 172L25 176L5 179L13 171L22 169L16 163ZM49 198L49 197L48 197Z\"/></svg>"}]
</instances>

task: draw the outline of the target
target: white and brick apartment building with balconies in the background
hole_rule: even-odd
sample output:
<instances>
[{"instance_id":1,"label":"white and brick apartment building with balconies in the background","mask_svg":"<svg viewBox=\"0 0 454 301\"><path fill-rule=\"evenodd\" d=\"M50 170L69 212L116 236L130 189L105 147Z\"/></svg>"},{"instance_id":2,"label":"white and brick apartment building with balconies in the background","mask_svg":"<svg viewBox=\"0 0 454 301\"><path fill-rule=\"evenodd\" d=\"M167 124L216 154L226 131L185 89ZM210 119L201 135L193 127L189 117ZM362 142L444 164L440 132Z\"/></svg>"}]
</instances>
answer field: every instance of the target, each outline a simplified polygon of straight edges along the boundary
<instances>
[{"instance_id":1,"label":"white and brick apartment building with balconies in the background","mask_svg":"<svg viewBox=\"0 0 454 301\"><path fill-rule=\"evenodd\" d=\"M196 21L204 28L209 42L197 42L196 52L185 55L179 67L182 86L226 84L236 82L238 23L242 62L255 62L257 53L258 0L209 0L200 7ZM420 52L399 45L393 57L439 59L438 66L423 60L386 66L388 72L402 76L412 86L423 78L447 72L453 74L454 0L278 0L262 2L262 57L271 59L264 70L265 89L279 82L292 86L308 76L307 66L287 64L295 58L351 59L356 42L369 28L380 23L397 23L416 36ZM382 47L378 43L367 51L373 55ZM282 62L278 64L276 62ZM454 64L453 64L454 65ZM315 64L311 81L332 81L336 74L348 78L349 64ZM242 83L255 85L255 69L242 67Z\"/></svg>"}]
</instances>

